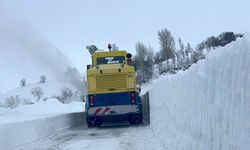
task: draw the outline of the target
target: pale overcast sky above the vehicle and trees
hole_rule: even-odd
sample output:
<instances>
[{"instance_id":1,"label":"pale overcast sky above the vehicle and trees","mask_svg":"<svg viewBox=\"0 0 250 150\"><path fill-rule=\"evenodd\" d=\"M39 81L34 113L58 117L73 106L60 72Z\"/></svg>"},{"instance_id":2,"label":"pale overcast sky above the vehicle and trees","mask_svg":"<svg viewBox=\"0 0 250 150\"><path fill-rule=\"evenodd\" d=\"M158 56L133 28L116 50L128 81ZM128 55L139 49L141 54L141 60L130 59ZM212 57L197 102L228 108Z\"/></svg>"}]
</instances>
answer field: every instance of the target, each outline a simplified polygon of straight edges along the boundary
<instances>
[{"instance_id":1,"label":"pale overcast sky above the vehicle and trees","mask_svg":"<svg viewBox=\"0 0 250 150\"><path fill-rule=\"evenodd\" d=\"M250 31L249 0L5 0L45 38L85 71L88 44L116 43L134 53L141 41L159 50L157 31L198 42L223 31Z\"/></svg>"}]
</instances>

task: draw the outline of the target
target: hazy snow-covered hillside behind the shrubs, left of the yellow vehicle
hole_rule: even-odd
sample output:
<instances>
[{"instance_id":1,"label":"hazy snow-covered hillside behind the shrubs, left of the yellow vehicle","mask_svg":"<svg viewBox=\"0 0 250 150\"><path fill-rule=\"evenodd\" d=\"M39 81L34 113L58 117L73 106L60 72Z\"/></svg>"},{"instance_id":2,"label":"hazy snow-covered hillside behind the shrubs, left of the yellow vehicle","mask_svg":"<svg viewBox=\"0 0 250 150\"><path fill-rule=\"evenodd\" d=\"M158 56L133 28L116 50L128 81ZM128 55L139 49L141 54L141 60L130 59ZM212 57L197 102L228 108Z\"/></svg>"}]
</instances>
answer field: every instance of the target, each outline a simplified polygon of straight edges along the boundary
<instances>
[{"instance_id":1,"label":"hazy snow-covered hillside behind the shrubs, left of the yellow vehicle","mask_svg":"<svg viewBox=\"0 0 250 150\"><path fill-rule=\"evenodd\" d=\"M0 105L10 96L34 102L31 90L35 87L42 89L42 98L59 96L64 87L82 94L82 77L68 58L26 19L0 8ZM44 84L39 83L42 75L46 77ZM24 87L22 79L26 80Z\"/></svg>"}]
</instances>

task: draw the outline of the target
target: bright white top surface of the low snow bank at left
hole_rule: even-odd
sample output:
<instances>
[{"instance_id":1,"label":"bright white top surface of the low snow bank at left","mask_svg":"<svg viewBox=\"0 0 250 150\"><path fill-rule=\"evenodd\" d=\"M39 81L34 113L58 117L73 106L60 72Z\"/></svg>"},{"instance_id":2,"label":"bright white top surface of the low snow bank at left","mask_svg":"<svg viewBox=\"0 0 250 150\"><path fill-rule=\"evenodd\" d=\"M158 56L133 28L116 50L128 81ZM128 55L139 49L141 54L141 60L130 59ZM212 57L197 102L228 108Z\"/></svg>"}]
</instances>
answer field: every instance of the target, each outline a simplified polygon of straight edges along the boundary
<instances>
[{"instance_id":1,"label":"bright white top surface of the low snow bank at left","mask_svg":"<svg viewBox=\"0 0 250 150\"><path fill-rule=\"evenodd\" d=\"M20 105L15 109L0 107L0 125L83 111L84 103L82 102L62 104L57 99L50 98L33 105Z\"/></svg>"}]
</instances>

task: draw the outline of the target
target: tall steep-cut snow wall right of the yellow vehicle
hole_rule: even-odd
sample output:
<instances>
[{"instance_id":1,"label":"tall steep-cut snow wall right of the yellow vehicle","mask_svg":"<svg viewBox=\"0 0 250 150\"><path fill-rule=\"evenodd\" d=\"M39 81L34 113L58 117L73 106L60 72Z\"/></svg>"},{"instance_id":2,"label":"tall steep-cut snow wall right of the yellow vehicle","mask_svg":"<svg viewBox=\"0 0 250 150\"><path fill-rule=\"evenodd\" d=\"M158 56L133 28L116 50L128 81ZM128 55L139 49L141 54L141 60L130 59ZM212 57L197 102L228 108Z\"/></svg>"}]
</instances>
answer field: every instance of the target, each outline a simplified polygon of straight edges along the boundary
<instances>
[{"instance_id":1,"label":"tall steep-cut snow wall right of the yellow vehicle","mask_svg":"<svg viewBox=\"0 0 250 150\"><path fill-rule=\"evenodd\" d=\"M131 130L121 147L248 150L249 66L250 36L245 35L187 71L157 81L150 90L150 126Z\"/></svg>"}]
</instances>

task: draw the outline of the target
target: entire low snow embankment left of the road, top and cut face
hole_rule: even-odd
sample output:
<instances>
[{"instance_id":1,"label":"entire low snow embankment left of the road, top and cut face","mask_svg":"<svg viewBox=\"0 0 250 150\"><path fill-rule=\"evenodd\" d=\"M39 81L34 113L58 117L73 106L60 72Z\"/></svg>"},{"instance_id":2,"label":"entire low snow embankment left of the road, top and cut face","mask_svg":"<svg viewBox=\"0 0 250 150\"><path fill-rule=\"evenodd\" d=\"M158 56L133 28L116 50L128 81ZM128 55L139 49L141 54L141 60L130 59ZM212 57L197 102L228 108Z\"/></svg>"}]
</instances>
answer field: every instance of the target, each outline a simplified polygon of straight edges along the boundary
<instances>
[{"instance_id":1,"label":"entire low snow embankment left of the road, top and cut face","mask_svg":"<svg viewBox=\"0 0 250 150\"><path fill-rule=\"evenodd\" d=\"M85 122L84 103L62 104L57 99L0 108L0 149L10 150Z\"/></svg>"}]
</instances>

